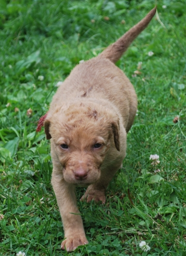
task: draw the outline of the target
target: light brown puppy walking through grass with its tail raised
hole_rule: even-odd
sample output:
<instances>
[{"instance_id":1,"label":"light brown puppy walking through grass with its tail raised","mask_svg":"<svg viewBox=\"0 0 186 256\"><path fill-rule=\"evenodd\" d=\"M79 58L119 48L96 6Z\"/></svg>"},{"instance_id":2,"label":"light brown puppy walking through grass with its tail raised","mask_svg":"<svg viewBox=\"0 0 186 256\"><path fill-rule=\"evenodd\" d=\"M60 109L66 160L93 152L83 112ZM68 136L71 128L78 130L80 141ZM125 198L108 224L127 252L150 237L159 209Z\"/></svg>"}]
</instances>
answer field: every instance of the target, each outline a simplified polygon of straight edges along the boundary
<instances>
[{"instance_id":1,"label":"light brown puppy walking through grass with its tail raised","mask_svg":"<svg viewBox=\"0 0 186 256\"><path fill-rule=\"evenodd\" d=\"M53 97L44 129L51 139L52 185L65 230L61 249L88 243L75 186L88 186L81 200L105 203L106 187L125 158L137 97L114 63L155 13L156 7L98 57L77 65Z\"/></svg>"}]
</instances>

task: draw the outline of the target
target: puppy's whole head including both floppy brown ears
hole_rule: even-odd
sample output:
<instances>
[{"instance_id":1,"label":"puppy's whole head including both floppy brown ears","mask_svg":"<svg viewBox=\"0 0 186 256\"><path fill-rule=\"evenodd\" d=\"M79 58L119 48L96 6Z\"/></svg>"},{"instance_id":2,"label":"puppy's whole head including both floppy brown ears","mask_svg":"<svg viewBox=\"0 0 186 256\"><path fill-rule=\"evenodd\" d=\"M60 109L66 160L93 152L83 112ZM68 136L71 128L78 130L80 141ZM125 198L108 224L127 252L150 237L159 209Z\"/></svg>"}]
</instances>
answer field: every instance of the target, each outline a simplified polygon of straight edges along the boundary
<instances>
[{"instance_id":1,"label":"puppy's whole head including both floppy brown ears","mask_svg":"<svg viewBox=\"0 0 186 256\"><path fill-rule=\"evenodd\" d=\"M120 150L119 118L106 110L70 106L49 115L44 129L68 183L97 182L108 150Z\"/></svg>"}]
</instances>

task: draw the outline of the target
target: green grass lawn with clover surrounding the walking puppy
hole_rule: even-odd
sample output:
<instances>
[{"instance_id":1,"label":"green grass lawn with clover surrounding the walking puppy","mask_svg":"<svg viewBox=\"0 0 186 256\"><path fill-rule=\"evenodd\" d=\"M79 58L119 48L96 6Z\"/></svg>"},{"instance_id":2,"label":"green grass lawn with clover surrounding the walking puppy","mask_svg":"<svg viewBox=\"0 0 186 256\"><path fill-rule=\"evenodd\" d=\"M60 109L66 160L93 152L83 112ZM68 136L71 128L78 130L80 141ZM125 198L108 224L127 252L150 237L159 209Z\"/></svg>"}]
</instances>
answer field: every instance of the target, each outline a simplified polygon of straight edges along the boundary
<instances>
[{"instance_id":1,"label":"green grass lawn with clover surrounding the walking puppy","mask_svg":"<svg viewBox=\"0 0 186 256\"><path fill-rule=\"evenodd\" d=\"M155 4L1 1L0 255L186 255L184 0L157 1L166 29L153 19L117 63L136 89L138 115L106 204L78 202L89 244L70 254L60 250L64 234L50 184L50 143L43 130L35 132L56 83L80 60L97 56ZM149 51L154 55L149 57ZM134 77L139 61L142 74ZM27 116L29 108L33 112ZM180 117L176 124L175 116ZM151 154L160 156L156 168ZM83 193L78 188L77 198ZM140 249L142 240L149 252Z\"/></svg>"}]
</instances>

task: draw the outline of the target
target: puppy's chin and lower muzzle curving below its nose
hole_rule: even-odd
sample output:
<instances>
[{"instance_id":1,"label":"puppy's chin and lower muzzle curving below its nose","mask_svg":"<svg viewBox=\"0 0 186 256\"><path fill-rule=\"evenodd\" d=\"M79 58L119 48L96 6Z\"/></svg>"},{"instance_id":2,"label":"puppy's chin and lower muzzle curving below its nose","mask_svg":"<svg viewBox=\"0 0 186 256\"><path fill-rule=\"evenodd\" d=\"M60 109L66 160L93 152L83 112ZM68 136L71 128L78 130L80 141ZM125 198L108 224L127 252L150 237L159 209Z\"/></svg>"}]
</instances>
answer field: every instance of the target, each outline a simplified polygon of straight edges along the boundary
<instances>
[{"instance_id":1,"label":"puppy's chin and lower muzzle curving below its nose","mask_svg":"<svg viewBox=\"0 0 186 256\"><path fill-rule=\"evenodd\" d=\"M96 183L100 179L101 172L99 170L95 170L94 172L88 172L87 178L84 180L76 180L74 173L68 173L67 170L64 172L64 179L66 182L70 184L74 184L77 186L88 186L92 183Z\"/></svg>"}]
</instances>

